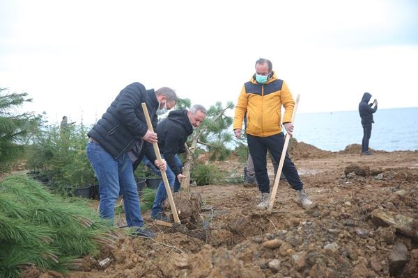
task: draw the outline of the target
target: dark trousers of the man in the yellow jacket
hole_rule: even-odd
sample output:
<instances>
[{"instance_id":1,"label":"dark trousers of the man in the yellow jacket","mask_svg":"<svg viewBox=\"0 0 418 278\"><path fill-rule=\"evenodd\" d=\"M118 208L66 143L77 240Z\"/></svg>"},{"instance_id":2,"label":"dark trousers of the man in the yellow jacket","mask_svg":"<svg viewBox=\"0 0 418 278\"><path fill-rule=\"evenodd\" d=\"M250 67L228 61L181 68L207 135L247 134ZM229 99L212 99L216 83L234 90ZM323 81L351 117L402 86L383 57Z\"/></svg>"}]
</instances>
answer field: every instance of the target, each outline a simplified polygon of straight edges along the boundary
<instances>
[{"instance_id":1,"label":"dark trousers of the man in the yellow jacket","mask_svg":"<svg viewBox=\"0 0 418 278\"><path fill-rule=\"evenodd\" d=\"M247 143L249 153L254 162L258 188L262 193L270 193L270 180L268 179L267 160L265 159L265 155L267 154L267 150L270 150L274 160L280 161L281 152L283 151L284 146L284 134L281 132L268 137L258 137L247 134ZM295 164L293 164L287 152L286 157L284 158L283 174L293 189L301 190L303 188L303 183L300 181L299 174L297 174Z\"/></svg>"}]
</instances>

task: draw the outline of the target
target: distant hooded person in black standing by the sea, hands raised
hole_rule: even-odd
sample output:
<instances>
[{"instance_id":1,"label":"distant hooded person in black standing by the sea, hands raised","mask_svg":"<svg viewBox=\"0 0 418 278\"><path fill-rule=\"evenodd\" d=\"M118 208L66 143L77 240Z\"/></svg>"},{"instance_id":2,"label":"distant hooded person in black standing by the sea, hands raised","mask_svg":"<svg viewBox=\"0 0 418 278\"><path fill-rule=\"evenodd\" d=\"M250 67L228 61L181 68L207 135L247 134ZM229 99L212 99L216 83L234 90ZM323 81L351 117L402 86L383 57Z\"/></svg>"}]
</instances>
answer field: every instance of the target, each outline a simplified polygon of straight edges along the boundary
<instances>
[{"instance_id":1,"label":"distant hooded person in black standing by the sea, hands raised","mask_svg":"<svg viewBox=\"0 0 418 278\"><path fill-rule=\"evenodd\" d=\"M369 152L369 139L371 136L371 124L374 123L373 121L373 113L378 110L378 101L375 99L371 104L369 101L371 99L371 94L369 92L365 92L362 101L359 103L359 114L362 118L362 126L363 126L363 140L362 140L362 155L371 155ZM371 106L374 107L371 108Z\"/></svg>"}]
</instances>

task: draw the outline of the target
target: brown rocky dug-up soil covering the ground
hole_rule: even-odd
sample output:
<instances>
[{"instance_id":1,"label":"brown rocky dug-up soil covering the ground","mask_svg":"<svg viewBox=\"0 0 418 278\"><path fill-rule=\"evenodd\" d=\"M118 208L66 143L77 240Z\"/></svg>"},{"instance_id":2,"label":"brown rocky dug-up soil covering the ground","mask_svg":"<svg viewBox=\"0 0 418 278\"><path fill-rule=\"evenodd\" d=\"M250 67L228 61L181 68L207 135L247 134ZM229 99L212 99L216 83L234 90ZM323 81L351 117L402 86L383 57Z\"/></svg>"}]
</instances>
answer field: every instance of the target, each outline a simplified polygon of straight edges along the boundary
<instances>
[{"instance_id":1,"label":"brown rocky dug-up soil covering the ground","mask_svg":"<svg viewBox=\"0 0 418 278\"><path fill-rule=\"evenodd\" d=\"M311 208L300 208L282 181L272 213L255 209L255 187L192 187L210 223L203 236L173 232L145 213L158 231L153 240L121 235L113 250L86 257L68 276L418 277L418 152L359 156L358 145L343 152L291 147ZM243 166L219 163L237 173Z\"/></svg>"}]
</instances>

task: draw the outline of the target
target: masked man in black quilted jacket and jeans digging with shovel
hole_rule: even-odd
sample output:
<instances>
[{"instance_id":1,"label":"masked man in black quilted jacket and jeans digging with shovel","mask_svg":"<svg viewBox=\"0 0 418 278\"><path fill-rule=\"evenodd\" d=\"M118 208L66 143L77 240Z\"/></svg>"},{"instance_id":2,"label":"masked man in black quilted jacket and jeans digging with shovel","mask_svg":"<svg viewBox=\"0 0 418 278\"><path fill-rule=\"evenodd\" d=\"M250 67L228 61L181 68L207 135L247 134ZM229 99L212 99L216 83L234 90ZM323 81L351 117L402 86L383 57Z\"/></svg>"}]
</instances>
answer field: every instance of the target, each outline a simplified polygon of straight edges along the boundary
<instances>
[{"instance_id":1,"label":"masked man in black quilted jacket and jeans digging with shovel","mask_svg":"<svg viewBox=\"0 0 418 278\"><path fill-rule=\"evenodd\" d=\"M86 153L99 181L100 217L113 222L114 206L121 191L127 225L138 227L137 234L141 236L152 237L153 233L142 227L144 220L132 161L141 159L145 154L157 167L160 166L162 170L166 167L165 163L158 164L152 149L148 148L149 143L157 142L157 133L148 129L141 104L146 103L155 126L157 114L164 112L165 108L173 108L176 101L176 92L170 88L146 90L141 83L132 83L121 90L106 113L88 132Z\"/></svg>"}]
</instances>

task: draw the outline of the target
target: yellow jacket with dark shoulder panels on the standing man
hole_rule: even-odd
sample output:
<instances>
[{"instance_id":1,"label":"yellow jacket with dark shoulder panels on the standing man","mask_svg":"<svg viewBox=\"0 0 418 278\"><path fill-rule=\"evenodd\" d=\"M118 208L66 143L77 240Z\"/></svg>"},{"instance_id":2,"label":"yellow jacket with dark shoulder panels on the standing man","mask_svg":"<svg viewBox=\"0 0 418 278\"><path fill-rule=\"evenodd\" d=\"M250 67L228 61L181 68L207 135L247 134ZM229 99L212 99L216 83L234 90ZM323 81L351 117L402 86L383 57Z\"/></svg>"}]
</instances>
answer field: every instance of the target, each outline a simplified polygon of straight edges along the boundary
<instances>
[{"instance_id":1,"label":"yellow jacket with dark shoulder panels on the standing man","mask_svg":"<svg viewBox=\"0 0 418 278\"><path fill-rule=\"evenodd\" d=\"M281 106L284 106L281 121ZM267 137L281 132L281 123L292 122L295 106L292 94L283 80L273 72L265 84L257 83L255 76L242 86L235 106L233 129L242 129L246 117L247 133L252 136Z\"/></svg>"}]
</instances>

